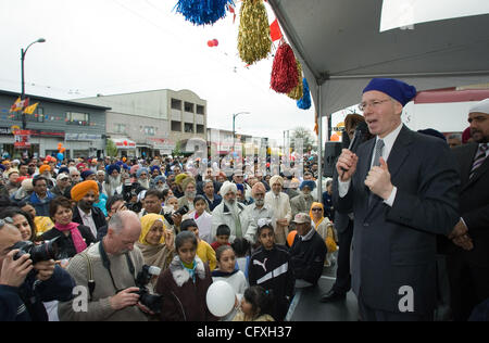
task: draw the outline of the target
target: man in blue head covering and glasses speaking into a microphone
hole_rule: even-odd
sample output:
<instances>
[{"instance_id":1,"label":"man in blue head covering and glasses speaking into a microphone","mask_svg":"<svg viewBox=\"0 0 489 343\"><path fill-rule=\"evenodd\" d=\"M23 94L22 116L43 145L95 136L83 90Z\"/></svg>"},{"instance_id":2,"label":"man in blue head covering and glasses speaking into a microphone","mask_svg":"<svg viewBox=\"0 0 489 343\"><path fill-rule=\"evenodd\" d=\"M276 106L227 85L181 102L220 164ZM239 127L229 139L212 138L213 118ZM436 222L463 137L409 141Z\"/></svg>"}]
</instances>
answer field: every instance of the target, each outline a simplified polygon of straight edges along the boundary
<instances>
[{"instance_id":1,"label":"man in blue head covering and glasses speaking into a microphone","mask_svg":"<svg viewBox=\"0 0 489 343\"><path fill-rule=\"evenodd\" d=\"M356 154L343 149L336 164L335 207L354 215L352 287L363 320L432 320L436 236L459 220L449 147L402 125L415 94L400 80L371 80L360 107L376 137Z\"/></svg>"}]
</instances>

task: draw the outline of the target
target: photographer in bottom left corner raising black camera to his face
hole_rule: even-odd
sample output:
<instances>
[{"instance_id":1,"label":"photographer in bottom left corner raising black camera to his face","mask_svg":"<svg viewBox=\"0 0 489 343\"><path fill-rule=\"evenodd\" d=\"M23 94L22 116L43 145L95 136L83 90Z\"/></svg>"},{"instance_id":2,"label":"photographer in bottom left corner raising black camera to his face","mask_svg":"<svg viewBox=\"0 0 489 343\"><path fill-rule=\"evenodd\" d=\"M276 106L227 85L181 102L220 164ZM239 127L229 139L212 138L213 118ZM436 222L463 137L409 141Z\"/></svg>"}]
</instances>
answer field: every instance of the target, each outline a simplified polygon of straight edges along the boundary
<instances>
[{"instance_id":1,"label":"photographer in bottom left corner raising black camera to his face","mask_svg":"<svg viewBox=\"0 0 489 343\"><path fill-rule=\"evenodd\" d=\"M48 321L42 302L68 301L75 282L52 259L17 258L22 234L12 223L0 219L0 321Z\"/></svg>"}]
</instances>

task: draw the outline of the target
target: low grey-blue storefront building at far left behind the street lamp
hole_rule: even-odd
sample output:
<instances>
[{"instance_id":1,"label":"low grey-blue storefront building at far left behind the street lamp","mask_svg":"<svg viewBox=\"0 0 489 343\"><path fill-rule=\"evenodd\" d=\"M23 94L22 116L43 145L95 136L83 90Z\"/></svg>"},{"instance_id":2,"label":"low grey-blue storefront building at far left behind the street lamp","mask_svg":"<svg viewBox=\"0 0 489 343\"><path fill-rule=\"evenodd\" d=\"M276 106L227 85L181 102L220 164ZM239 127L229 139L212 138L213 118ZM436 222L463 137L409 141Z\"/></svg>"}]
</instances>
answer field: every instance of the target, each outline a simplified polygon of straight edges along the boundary
<instances>
[{"instance_id":1,"label":"low grey-blue storefront building at far left behind the street lamp","mask_svg":"<svg viewBox=\"0 0 489 343\"><path fill-rule=\"evenodd\" d=\"M0 150L15 157L55 155L59 143L65 157L102 156L105 149L105 111L109 107L26 94L29 104L38 103L33 114L26 114L26 130L22 130L22 111L11 112L20 97L0 90ZM22 131L24 132L22 132ZM24 142L18 135L28 134ZM17 141L16 141L17 140Z\"/></svg>"}]
</instances>

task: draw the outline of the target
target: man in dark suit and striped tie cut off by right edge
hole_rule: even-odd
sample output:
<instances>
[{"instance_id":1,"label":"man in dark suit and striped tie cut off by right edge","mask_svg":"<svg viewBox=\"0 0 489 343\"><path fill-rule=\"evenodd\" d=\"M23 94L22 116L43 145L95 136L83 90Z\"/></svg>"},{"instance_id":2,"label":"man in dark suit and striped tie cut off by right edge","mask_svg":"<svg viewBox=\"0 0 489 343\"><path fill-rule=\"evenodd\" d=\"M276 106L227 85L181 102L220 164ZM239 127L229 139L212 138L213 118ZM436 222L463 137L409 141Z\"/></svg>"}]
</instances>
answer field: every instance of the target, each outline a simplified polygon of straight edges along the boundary
<instances>
[{"instance_id":1,"label":"man in dark suit and striped tie cut off by right edge","mask_svg":"<svg viewBox=\"0 0 489 343\"><path fill-rule=\"evenodd\" d=\"M454 320L489 298L489 99L469 109L473 143L452 150L460 166L460 220L446 241Z\"/></svg>"}]
</instances>

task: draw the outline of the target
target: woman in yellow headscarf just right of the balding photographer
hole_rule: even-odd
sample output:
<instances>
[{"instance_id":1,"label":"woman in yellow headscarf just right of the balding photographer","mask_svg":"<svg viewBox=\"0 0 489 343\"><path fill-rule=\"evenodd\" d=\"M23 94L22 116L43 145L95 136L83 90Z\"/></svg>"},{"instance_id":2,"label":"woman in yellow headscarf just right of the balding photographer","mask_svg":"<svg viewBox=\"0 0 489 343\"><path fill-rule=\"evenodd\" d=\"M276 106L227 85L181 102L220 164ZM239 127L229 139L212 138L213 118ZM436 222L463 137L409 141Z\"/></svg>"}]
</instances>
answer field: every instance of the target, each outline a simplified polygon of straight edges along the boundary
<instances>
[{"instance_id":1,"label":"woman in yellow headscarf just right of the balding photographer","mask_svg":"<svg viewBox=\"0 0 489 343\"><path fill-rule=\"evenodd\" d=\"M174 257L174 234L165 227L162 215L150 213L141 218L141 234L136 245L141 250L145 264L165 270ZM156 280L152 281L155 285Z\"/></svg>"}]
</instances>

